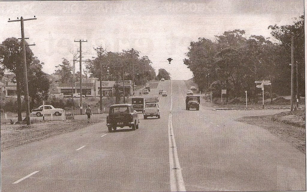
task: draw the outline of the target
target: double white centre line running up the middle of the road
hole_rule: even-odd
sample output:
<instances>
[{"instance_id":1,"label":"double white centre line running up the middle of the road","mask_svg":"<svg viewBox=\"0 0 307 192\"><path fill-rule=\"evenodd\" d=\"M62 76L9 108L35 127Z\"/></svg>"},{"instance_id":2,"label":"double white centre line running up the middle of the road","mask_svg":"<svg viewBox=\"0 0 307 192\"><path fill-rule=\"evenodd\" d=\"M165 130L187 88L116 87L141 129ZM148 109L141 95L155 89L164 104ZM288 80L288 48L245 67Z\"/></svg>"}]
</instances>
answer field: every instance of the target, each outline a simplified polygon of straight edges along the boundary
<instances>
[{"instance_id":1,"label":"double white centre line running up the middle of the road","mask_svg":"<svg viewBox=\"0 0 307 192\"><path fill-rule=\"evenodd\" d=\"M174 137L173 123L172 123L172 109L173 109L173 81L171 80L171 107L168 123L169 134L169 176L170 176L170 188L171 191L186 191L185 184L182 178L181 167L177 154L177 146Z\"/></svg>"}]
</instances>

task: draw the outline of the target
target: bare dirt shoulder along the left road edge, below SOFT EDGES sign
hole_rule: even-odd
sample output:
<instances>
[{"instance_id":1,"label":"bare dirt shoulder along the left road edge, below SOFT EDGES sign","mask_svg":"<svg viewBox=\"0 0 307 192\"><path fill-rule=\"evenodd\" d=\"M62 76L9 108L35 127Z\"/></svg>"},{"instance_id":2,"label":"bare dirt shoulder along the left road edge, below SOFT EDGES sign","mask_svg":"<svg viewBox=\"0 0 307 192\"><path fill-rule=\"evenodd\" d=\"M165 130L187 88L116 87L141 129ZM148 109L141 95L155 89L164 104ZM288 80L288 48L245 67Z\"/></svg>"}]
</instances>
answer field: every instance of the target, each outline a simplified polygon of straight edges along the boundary
<instances>
[{"instance_id":1,"label":"bare dirt shoulder along the left road edge, below SOFT EDGES sign","mask_svg":"<svg viewBox=\"0 0 307 192\"><path fill-rule=\"evenodd\" d=\"M101 117L91 119L90 123L87 123L87 120L75 120L72 122L39 121L29 126L1 124L1 151L49 138L54 135L76 131L77 129L102 122L103 120L105 118Z\"/></svg>"}]
</instances>

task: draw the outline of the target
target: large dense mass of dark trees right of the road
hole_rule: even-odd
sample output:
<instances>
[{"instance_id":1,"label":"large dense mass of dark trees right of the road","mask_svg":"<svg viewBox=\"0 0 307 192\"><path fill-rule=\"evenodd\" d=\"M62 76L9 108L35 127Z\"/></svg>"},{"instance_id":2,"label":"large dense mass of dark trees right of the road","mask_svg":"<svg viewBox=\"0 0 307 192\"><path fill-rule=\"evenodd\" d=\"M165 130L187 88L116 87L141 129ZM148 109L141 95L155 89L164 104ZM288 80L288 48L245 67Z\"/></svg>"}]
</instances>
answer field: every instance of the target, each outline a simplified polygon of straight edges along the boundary
<instances>
[{"instance_id":1,"label":"large dense mass of dark trees right of the road","mask_svg":"<svg viewBox=\"0 0 307 192\"><path fill-rule=\"evenodd\" d=\"M293 35L294 64L298 66L294 80L299 82L298 93L305 95L304 16L293 23L268 26L280 43L258 35L246 37L245 31L240 29L216 35L215 41L199 38L190 43L184 64L193 72L194 81L202 92L212 91L220 96L221 89L227 89L227 98L234 98L245 96L244 91L247 91L257 102L262 92L256 88L255 80L271 80L273 93L289 95ZM270 86L266 86L265 91L270 90L267 88Z\"/></svg>"}]
</instances>

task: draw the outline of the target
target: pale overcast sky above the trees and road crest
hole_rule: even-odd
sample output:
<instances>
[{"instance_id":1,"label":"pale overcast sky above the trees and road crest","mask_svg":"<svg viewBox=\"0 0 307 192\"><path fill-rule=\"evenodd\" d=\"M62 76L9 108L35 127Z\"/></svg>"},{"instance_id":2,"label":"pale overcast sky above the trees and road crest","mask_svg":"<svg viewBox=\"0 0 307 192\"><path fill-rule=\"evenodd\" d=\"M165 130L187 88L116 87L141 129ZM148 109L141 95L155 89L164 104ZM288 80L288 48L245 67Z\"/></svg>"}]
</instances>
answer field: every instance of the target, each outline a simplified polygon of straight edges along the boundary
<instances>
[{"instance_id":1,"label":"pale overcast sky above the trees and road crest","mask_svg":"<svg viewBox=\"0 0 307 192\"><path fill-rule=\"evenodd\" d=\"M287 25L304 14L303 0L220 0L220 1L51 1L0 2L0 41L25 37L35 56L44 62L43 71L53 73L62 58L72 60L70 51L82 43L83 59L95 56L93 47L107 51L134 48L147 55L156 72L160 68L173 79L189 79L183 64L191 41L198 37L215 40L224 31L244 29L247 37L271 37L269 25ZM173 58L168 64L167 58Z\"/></svg>"}]
</instances>

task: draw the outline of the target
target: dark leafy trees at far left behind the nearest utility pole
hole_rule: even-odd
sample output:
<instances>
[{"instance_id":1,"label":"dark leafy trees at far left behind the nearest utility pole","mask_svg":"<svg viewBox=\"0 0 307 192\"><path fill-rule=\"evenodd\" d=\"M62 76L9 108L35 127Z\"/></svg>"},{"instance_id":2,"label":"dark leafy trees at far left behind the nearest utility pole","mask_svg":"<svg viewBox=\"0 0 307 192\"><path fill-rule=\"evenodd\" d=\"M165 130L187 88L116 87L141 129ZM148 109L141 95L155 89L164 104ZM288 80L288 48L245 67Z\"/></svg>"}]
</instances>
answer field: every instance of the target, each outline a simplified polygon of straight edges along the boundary
<instances>
[{"instance_id":1,"label":"dark leafy trees at far left behind the nearest utility pole","mask_svg":"<svg viewBox=\"0 0 307 192\"><path fill-rule=\"evenodd\" d=\"M41 103L43 97L49 90L50 82L48 76L42 71L44 63L34 56L32 50L26 43L26 64L28 74L29 96L31 98L30 108L36 103ZM0 75L4 75L4 71L15 74L16 93L17 93L17 113L18 121L21 121L21 95L25 95L23 84L23 69L21 59L21 41L15 37L10 37L0 44Z\"/></svg>"}]
</instances>

